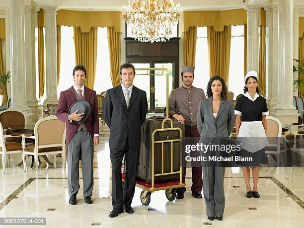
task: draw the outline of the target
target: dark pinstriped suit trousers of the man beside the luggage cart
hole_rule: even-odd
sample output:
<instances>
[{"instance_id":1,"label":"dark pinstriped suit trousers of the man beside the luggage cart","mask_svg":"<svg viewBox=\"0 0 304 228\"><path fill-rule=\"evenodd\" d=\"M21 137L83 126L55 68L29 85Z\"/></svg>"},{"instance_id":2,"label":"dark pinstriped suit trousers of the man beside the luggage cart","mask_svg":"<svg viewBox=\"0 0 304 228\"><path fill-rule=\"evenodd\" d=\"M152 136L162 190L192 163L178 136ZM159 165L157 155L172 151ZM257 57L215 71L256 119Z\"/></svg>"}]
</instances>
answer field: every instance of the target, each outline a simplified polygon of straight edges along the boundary
<instances>
[{"instance_id":1,"label":"dark pinstriped suit trousers of the man beside the luggage cart","mask_svg":"<svg viewBox=\"0 0 304 228\"><path fill-rule=\"evenodd\" d=\"M138 169L140 151L131 150L128 139L122 150L110 148L112 162L112 206L113 209L123 209L123 205L131 206L135 192L136 172ZM122 160L125 155L125 182L124 188L121 177Z\"/></svg>"}]
</instances>

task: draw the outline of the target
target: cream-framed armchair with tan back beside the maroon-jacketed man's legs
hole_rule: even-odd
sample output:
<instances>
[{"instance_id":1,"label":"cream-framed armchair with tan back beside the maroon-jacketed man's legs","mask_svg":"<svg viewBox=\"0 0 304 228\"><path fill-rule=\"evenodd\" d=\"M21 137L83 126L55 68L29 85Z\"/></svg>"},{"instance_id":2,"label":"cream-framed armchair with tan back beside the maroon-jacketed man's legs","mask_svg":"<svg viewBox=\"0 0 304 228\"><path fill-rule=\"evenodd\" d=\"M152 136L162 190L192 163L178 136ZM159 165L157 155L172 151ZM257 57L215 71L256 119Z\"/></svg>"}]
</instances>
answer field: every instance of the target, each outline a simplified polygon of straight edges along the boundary
<instances>
[{"instance_id":1,"label":"cream-framed armchair with tan back beside the maroon-jacketed man's legs","mask_svg":"<svg viewBox=\"0 0 304 228\"><path fill-rule=\"evenodd\" d=\"M56 167L56 154L62 154L62 167L66 164L66 125L58 120L56 116L49 116L40 119L34 128L34 135L22 135L23 139L34 139L32 145L25 145L23 140L23 165L24 171L27 171L25 155L34 155L36 176L38 177L38 155L54 155L54 166ZM47 164L47 168L49 165Z\"/></svg>"}]
</instances>

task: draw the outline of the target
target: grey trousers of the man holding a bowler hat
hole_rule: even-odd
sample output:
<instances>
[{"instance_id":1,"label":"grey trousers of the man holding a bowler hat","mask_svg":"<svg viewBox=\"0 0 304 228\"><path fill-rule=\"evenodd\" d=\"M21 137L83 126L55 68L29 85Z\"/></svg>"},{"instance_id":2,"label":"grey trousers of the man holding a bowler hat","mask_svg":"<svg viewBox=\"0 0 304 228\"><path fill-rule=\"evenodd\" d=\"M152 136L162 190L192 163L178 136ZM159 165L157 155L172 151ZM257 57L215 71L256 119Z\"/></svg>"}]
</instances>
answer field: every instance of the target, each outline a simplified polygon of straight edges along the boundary
<instances>
[{"instance_id":1,"label":"grey trousers of the man holding a bowler hat","mask_svg":"<svg viewBox=\"0 0 304 228\"><path fill-rule=\"evenodd\" d=\"M79 158L83 180L83 196L92 196L93 191L93 138L87 131L77 131L68 145L69 196L79 191Z\"/></svg>"}]
</instances>

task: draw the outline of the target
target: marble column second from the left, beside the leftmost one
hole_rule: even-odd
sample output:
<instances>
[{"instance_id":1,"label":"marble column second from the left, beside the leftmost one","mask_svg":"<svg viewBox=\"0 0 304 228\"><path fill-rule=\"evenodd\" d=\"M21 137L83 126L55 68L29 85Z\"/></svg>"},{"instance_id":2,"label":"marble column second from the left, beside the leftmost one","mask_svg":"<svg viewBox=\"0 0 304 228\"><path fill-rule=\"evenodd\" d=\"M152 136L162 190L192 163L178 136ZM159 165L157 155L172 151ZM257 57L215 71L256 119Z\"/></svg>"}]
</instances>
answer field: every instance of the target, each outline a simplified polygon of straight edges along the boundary
<instances>
[{"instance_id":1,"label":"marble column second from the left, beside the leftmost one","mask_svg":"<svg viewBox=\"0 0 304 228\"><path fill-rule=\"evenodd\" d=\"M38 118L38 100L36 98L36 59L35 59L35 28L37 27L38 7L24 7L25 26L25 73L26 73L26 101L32 110L34 121Z\"/></svg>"}]
</instances>

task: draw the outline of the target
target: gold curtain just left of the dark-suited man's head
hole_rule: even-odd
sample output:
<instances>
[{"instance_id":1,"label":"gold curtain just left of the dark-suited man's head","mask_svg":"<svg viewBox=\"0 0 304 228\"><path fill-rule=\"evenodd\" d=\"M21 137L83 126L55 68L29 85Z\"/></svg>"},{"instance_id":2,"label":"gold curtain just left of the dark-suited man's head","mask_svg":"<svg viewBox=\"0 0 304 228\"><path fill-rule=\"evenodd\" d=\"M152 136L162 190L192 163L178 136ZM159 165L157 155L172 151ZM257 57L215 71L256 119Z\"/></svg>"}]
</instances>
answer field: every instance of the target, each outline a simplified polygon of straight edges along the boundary
<instances>
[{"instance_id":1,"label":"gold curtain just left of the dark-suited man's head","mask_svg":"<svg viewBox=\"0 0 304 228\"><path fill-rule=\"evenodd\" d=\"M110 75L113 87L120 84L120 32L116 32L114 27L107 27L108 45L110 54Z\"/></svg>"}]
</instances>

